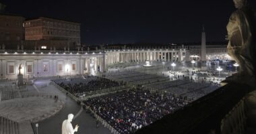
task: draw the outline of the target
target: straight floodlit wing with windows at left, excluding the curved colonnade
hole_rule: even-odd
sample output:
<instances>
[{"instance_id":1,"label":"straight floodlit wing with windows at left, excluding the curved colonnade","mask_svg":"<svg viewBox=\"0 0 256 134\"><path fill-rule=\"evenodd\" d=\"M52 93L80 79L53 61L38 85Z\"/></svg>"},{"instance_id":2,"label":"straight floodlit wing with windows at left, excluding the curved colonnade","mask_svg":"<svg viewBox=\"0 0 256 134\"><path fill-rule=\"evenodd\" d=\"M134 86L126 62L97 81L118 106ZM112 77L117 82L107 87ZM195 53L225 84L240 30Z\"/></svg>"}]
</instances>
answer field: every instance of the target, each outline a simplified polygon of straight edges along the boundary
<instances>
[{"instance_id":1,"label":"straight floodlit wing with windows at left, excluding the curved colonnade","mask_svg":"<svg viewBox=\"0 0 256 134\"><path fill-rule=\"evenodd\" d=\"M4 52L0 54L1 78L16 79L20 65L24 78L95 74L104 72L104 54Z\"/></svg>"}]
</instances>

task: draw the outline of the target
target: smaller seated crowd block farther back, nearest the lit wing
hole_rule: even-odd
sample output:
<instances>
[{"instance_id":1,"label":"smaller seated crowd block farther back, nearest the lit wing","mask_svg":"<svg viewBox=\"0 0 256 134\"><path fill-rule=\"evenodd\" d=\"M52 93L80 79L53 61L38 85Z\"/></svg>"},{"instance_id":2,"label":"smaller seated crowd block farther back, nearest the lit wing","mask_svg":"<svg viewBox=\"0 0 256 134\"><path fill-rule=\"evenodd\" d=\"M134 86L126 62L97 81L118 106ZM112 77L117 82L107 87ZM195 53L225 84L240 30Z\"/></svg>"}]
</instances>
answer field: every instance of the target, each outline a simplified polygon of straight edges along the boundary
<instances>
[{"instance_id":1,"label":"smaller seated crowd block farther back, nearest the lit wing","mask_svg":"<svg viewBox=\"0 0 256 134\"><path fill-rule=\"evenodd\" d=\"M86 94L86 92L90 91L121 86L119 82L109 80L107 78L100 78L98 76L86 76L83 78L59 78L53 80L53 82L75 96Z\"/></svg>"}]
</instances>

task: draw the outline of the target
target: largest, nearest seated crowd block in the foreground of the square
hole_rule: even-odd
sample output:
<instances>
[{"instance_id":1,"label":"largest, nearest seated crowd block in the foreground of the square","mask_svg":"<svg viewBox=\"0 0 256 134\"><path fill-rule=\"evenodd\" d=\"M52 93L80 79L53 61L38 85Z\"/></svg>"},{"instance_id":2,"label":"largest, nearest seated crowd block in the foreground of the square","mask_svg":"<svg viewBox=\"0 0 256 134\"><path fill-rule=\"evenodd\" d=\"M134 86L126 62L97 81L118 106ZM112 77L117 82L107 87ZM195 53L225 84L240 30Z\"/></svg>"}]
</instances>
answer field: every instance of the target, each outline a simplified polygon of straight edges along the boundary
<instances>
[{"instance_id":1,"label":"largest, nearest seated crowd block in the foreground of the square","mask_svg":"<svg viewBox=\"0 0 256 134\"><path fill-rule=\"evenodd\" d=\"M141 89L90 98L84 103L119 133L134 133L187 105L168 92Z\"/></svg>"}]
</instances>

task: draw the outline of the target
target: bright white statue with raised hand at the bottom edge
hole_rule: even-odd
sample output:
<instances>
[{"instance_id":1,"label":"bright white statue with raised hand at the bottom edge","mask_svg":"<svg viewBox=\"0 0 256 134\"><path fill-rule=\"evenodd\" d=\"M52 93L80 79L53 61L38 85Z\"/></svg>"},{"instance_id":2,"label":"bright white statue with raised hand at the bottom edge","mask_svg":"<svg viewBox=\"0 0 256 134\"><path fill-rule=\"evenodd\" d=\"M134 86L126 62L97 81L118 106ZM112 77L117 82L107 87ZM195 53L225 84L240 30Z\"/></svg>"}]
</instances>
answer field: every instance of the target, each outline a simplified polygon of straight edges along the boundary
<instances>
[{"instance_id":1,"label":"bright white statue with raised hand at the bottom edge","mask_svg":"<svg viewBox=\"0 0 256 134\"><path fill-rule=\"evenodd\" d=\"M71 121L73 119L74 115L69 114L67 115L67 119L65 119L62 123L62 134L73 134L77 132L78 125L75 125L75 129L73 129L73 126L71 124Z\"/></svg>"}]
</instances>

